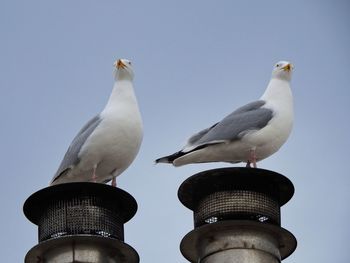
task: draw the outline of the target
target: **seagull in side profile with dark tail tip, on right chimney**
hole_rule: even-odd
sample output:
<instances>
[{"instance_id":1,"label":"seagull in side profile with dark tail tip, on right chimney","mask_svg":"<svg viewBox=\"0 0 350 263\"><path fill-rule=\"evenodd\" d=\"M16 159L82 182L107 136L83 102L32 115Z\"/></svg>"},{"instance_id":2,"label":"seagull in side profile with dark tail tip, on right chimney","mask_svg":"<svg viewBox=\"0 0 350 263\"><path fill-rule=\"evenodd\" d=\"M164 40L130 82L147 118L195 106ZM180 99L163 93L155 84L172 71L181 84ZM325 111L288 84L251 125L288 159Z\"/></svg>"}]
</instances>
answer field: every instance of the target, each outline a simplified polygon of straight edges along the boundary
<instances>
[{"instance_id":1,"label":"seagull in side profile with dark tail tip, on right chimney","mask_svg":"<svg viewBox=\"0 0 350 263\"><path fill-rule=\"evenodd\" d=\"M277 152L293 126L293 96L290 81L293 65L274 65L262 97L226 116L187 141L178 152L157 159L156 163L181 166L207 162L246 162L247 167Z\"/></svg>"}]
</instances>

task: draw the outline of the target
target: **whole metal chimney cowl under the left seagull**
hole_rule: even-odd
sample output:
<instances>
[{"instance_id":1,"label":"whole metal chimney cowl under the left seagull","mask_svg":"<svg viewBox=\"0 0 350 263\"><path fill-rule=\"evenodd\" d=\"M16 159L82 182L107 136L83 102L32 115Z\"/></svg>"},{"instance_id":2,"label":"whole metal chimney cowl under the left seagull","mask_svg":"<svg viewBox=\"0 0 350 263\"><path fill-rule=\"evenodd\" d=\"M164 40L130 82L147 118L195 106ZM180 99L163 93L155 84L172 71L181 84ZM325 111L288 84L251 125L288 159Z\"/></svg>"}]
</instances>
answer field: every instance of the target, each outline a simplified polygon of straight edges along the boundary
<instances>
[{"instance_id":1,"label":"whole metal chimney cowl under the left seagull","mask_svg":"<svg viewBox=\"0 0 350 263\"><path fill-rule=\"evenodd\" d=\"M39 239L26 263L139 262L124 242L124 223L137 203L122 189L88 182L54 185L32 194L23 210L38 226Z\"/></svg>"}]
</instances>

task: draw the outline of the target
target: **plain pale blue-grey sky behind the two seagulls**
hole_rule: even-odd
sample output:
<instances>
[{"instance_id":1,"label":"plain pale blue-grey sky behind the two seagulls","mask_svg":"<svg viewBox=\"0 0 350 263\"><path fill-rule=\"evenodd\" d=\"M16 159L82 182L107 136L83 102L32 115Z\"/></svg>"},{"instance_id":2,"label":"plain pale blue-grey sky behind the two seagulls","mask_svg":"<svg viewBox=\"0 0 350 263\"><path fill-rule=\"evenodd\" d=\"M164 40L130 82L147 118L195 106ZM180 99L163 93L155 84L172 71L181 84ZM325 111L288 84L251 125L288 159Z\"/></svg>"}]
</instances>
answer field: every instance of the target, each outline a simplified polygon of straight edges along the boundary
<instances>
[{"instance_id":1,"label":"plain pale blue-grey sky behind the two seagulls","mask_svg":"<svg viewBox=\"0 0 350 263\"><path fill-rule=\"evenodd\" d=\"M104 107L120 57L133 61L144 121L139 155L118 178L138 201L125 240L141 262L186 262L179 244L192 213L177 189L229 166L153 160L259 98L279 60L295 65L295 126L259 167L296 188L282 226L298 247L284 262L349 262L349 29L347 0L1 1L1 262L23 262L37 244L23 203Z\"/></svg>"}]
</instances>

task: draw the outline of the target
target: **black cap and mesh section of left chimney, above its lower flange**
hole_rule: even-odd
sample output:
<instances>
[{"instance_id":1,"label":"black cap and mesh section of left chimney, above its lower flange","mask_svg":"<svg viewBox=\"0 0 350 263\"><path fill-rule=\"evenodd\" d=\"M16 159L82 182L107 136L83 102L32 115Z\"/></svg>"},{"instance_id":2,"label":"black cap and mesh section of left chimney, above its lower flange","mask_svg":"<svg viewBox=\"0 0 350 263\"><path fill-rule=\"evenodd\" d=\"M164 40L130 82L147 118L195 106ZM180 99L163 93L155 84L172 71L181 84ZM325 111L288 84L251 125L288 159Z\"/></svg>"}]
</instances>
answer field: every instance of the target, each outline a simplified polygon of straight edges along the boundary
<instances>
[{"instance_id":1,"label":"black cap and mesh section of left chimney, above its lower flange","mask_svg":"<svg viewBox=\"0 0 350 263\"><path fill-rule=\"evenodd\" d=\"M137 202L129 193L109 185L66 183L32 194L23 211L38 226L39 243L72 235L124 241L124 224L135 215Z\"/></svg>"}]
</instances>

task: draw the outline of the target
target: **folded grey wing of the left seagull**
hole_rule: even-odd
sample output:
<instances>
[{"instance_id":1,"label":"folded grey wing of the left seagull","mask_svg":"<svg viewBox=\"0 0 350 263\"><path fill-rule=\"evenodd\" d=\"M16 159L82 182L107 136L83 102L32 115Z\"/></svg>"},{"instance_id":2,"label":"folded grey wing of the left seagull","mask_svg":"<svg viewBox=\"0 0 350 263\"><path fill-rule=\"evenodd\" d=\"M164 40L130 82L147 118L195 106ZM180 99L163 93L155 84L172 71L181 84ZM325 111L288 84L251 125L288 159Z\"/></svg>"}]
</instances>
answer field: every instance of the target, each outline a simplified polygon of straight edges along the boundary
<instances>
[{"instance_id":1,"label":"folded grey wing of the left seagull","mask_svg":"<svg viewBox=\"0 0 350 263\"><path fill-rule=\"evenodd\" d=\"M96 129L100 124L101 118L99 115L93 117L84 127L78 132L78 134L73 139L70 144L66 154L63 157L63 160L53 177L52 181L55 181L60 175L62 175L67 169L70 169L73 165L79 162L79 151L84 145L86 139L91 135L91 133Z\"/></svg>"}]
</instances>

